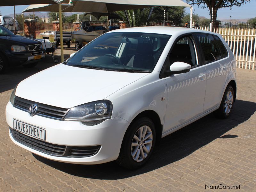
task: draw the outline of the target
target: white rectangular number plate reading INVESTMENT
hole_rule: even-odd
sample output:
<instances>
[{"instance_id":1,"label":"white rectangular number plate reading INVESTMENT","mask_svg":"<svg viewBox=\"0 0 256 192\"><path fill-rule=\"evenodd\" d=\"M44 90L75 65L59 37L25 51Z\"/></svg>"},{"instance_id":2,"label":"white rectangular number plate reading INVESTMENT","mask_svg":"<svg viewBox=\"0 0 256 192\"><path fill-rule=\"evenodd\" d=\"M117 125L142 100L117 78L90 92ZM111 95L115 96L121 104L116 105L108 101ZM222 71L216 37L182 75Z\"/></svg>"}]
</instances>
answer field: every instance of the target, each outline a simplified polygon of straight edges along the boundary
<instances>
[{"instance_id":1,"label":"white rectangular number plate reading INVESTMENT","mask_svg":"<svg viewBox=\"0 0 256 192\"><path fill-rule=\"evenodd\" d=\"M45 130L40 127L13 119L13 129L36 139L45 140Z\"/></svg>"}]
</instances>

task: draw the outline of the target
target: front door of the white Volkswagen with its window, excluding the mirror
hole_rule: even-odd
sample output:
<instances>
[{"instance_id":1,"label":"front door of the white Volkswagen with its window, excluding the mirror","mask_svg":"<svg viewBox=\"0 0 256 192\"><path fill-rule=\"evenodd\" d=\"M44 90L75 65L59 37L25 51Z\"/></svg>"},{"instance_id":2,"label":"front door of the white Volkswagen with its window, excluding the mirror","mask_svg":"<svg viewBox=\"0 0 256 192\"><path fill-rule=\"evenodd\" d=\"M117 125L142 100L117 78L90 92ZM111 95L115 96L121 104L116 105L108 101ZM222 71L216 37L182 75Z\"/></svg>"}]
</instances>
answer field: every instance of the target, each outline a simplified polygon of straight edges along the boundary
<instances>
[{"instance_id":1,"label":"front door of the white Volkswagen with its window, excluding the mirror","mask_svg":"<svg viewBox=\"0 0 256 192\"><path fill-rule=\"evenodd\" d=\"M204 95L206 87L206 71L198 61L193 36L178 38L164 65L164 71L170 71L170 66L176 62L191 65L187 73L166 76L167 108L165 131L182 125L204 111ZM167 74L167 73L166 73Z\"/></svg>"}]
</instances>

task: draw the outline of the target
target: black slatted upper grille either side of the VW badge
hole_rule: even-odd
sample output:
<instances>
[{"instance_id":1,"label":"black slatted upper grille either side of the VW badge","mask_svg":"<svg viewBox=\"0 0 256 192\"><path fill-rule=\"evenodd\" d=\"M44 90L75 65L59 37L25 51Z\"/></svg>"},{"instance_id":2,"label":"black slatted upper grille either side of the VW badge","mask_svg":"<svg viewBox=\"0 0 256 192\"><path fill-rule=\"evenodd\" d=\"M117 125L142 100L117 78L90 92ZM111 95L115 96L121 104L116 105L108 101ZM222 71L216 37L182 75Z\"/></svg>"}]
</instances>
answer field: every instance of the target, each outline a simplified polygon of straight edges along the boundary
<instances>
[{"instance_id":1,"label":"black slatted upper grille either side of the VW badge","mask_svg":"<svg viewBox=\"0 0 256 192\"><path fill-rule=\"evenodd\" d=\"M13 107L28 112L30 105L34 103L36 103L38 106L36 115L51 118L51 119L63 120L69 110L66 108L54 107L51 105L46 105L46 104L38 103L35 101L23 99L17 96L15 96Z\"/></svg>"}]
</instances>

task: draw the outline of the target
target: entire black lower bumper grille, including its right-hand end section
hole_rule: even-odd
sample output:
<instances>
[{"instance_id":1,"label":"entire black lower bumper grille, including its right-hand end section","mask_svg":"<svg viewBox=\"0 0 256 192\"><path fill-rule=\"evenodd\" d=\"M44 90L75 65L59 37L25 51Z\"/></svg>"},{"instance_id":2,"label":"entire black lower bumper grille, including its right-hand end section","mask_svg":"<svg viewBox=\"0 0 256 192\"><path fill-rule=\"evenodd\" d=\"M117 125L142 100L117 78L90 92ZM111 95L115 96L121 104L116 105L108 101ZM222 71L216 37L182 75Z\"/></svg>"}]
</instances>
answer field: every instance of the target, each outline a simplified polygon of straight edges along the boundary
<instances>
[{"instance_id":1,"label":"entire black lower bumper grille, including its right-hand end section","mask_svg":"<svg viewBox=\"0 0 256 192\"><path fill-rule=\"evenodd\" d=\"M12 137L19 143L40 151L45 154L52 156L61 156L61 157L89 157L96 155L100 150L100 145L89 146L89 147L74 147L74 146L64 146L64 145L55 145L48 143L43 140L38 140L33 137L29 137L21 132L18 132L10 128Z\"/></svg>"}]
</instances>

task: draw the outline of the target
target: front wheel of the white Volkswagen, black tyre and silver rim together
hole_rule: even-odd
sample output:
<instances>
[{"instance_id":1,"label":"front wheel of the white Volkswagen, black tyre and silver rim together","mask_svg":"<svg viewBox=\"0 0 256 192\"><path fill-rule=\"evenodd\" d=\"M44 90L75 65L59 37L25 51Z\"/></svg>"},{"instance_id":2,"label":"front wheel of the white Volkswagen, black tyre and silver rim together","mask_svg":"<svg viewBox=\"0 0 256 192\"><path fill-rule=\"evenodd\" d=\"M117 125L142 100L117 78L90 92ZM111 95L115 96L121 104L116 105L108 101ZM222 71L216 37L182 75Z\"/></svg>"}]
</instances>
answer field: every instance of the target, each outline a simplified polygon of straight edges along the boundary
<instances>
[{"instance_id":1,"label":"front wheel of the white Volkswagen, black tyre and silver rim together","mask_svg":"<svg viewBox=\"0 0 256 192\"><path fill-rule=\"evenodd\" d=\"M154 123L147 117L141 117L126 131L117 162L124 168L137 169L148 161L155 143Z\"/></svg>"}]
</instances>

